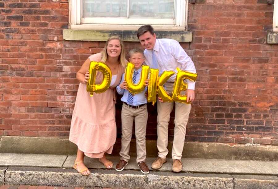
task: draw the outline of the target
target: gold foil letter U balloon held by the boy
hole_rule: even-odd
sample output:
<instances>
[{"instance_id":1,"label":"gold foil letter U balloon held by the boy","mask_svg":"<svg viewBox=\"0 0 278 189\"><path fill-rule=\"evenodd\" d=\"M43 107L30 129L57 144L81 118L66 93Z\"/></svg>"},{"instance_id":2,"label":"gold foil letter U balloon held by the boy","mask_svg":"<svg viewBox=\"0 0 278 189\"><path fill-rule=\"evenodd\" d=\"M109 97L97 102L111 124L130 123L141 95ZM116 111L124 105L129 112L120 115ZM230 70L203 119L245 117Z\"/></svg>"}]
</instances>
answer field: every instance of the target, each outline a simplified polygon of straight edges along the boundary
<instances>
[{"instance_id":1,"label":"gold foil letter U balloon held by the boy","mask_svg":"<svg viewBox=\"0 0 278 189\"><path fill-rule=\"evenodd\" d=\"M149 69L149 66L142 65L140 81L137 84L134 84L132 81L134 65L128 62L125 68L124 80L126 81L127 89L131 94L135 95L139 92L144 91L145 80L148 79Z\"/></svg>"}]
</instances>

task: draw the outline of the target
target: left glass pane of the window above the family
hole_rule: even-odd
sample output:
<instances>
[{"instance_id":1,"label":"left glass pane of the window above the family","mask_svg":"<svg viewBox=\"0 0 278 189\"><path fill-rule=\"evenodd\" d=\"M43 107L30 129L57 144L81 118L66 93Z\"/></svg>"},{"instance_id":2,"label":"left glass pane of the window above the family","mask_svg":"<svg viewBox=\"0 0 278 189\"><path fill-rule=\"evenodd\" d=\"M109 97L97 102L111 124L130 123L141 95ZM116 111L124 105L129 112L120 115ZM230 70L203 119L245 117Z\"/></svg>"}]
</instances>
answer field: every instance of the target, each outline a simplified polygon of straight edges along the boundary
<instances>
[{"instance_id":1,"label":"left glass pane of the window above the family","mask_svg":"<svg viewBox=\"0 0 278 189\"><path fill-rule=\"evenodd\" d=\"M83 0L84 17L127 17L127 0Z\"/></svg>"}]
</instances>

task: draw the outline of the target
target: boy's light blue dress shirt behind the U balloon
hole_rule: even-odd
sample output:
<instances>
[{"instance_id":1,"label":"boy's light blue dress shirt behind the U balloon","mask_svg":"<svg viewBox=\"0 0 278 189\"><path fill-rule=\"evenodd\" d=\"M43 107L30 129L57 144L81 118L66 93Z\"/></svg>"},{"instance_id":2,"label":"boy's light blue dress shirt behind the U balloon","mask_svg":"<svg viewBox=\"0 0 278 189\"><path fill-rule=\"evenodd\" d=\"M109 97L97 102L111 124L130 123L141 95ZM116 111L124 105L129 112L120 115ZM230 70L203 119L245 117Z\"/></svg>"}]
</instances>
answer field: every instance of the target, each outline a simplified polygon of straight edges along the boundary
<instances>
[{"instance_id":1,"label":"boy's light blue dress shirt behind the U balloon","mask_svg":"<svg viewBox=\"0 0 278 189\"><path fill-rule=\"evenodd\" d=\"M138 71L138 74L137 74L137 76L136 76L136 83L138 83L139 80L140 80L141 72L142 72L142 67L139 68L137 71ZM121 79L121 82L120 82L120 83L122 83L123 81L124 81L124 74L122 75L122 79ZM127 103L128 90L120 88L120 85L118 85L118 86L116 87L116 90L117 90L117 92L118 92L119 94L123 94L123 95L124 95L124 96L121 98L121 101ZM130 104L130 105L139 106L139 105L141 105L141 104L146 104L146 103L147 103L147 99L146 99L146 97L145 97L145 92L146 92L146 90L147 90L147 87L145 87L145 89L144 89L143 92L140 92L140 93L138 93L138 94L135 94L135 95L133 96L133 103Z\"/></svg>"}]
</instances>

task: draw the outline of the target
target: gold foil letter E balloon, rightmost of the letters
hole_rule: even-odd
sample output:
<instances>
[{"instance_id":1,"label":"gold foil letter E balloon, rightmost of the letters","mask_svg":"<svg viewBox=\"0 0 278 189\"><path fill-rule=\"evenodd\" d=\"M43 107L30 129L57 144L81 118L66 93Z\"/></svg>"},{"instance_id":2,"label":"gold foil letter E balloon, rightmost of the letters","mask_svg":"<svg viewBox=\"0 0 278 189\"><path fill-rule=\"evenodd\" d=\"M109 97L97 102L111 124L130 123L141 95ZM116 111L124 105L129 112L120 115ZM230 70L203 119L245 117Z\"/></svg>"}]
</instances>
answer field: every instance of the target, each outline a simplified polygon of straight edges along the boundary
<instances>
[{"instance_id":1,"label":"gold foil letter E balloon, rightmost of the letters","mask_svg":"<svg viewBox=\"0 0 278 189\"><path fill-rule=\"evenodd\" d=\"M177 77L175 80L174 84L174 89L173 89L173 95L172 98L175 102L181 102L181 103L186 103L190 104L190 102L187 102L187 96L186 95L181 95L181 91L185 91L187 89L187 83L184 83L184 79L189 79L192 81L197 80L197 74L196 73L191 73L191 72L185 72L177 68L178 73Z\"/></svg>"}]
</instances>

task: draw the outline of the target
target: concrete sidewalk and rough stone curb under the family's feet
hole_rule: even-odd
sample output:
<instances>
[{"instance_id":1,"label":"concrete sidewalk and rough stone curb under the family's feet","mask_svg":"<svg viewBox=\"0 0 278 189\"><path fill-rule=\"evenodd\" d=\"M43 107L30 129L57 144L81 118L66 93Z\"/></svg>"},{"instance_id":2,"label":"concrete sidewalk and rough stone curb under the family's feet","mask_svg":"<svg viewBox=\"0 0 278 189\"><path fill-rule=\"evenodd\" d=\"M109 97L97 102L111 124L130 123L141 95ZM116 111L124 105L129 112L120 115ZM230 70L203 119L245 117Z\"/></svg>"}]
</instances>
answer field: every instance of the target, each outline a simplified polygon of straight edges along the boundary
<instances>
[{"instance_id":1,"label":"concrete sidewalk and rough stone curb under the family's feet","mask_svg":"<svg viewBox=\"0 0 278 189\"><path fill-rule=\"evenodd\" d=\"M273 188L278 189L278 162L183 158L181 173L171 172L172 160L159 171L144 175L132 158L122 172L115 171L119 157L107 170L98 159L85 158L92 172L82 176L72 169L74 155L0 153L0 184L48 185L64 187L124 188ZM154 158L146 160L150 167ZM151 169L150 169L151 170Z\"/></svg>"}]
</instances>

